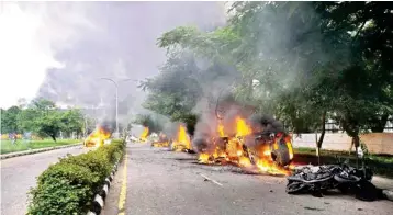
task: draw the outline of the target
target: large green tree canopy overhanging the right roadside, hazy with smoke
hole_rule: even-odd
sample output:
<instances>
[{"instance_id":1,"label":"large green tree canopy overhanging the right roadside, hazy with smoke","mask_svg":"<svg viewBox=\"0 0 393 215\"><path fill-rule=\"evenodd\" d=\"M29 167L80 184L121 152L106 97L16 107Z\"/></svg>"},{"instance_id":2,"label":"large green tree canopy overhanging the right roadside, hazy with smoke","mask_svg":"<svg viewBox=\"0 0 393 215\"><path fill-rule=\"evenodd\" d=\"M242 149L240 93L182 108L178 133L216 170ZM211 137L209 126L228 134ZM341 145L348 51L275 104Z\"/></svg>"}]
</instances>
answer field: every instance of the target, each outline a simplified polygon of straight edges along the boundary
<instances>
[{"instance_id":1,"label":"large green tree canopy overhanging the right roadside, hazy with smoke","mask_svg":"<svg viewBox=\"0 0 393 215\"><path fill-rule=\"evenodd\" d=\"M181 121L225 77L237 101L293 132L324 129L327 118L352 137L383 132L393 113L392 4L234 2L228 16L214 31L178 26L158 38L168 59L142 86L145 108Z\"/></svg>"}]
</instances>

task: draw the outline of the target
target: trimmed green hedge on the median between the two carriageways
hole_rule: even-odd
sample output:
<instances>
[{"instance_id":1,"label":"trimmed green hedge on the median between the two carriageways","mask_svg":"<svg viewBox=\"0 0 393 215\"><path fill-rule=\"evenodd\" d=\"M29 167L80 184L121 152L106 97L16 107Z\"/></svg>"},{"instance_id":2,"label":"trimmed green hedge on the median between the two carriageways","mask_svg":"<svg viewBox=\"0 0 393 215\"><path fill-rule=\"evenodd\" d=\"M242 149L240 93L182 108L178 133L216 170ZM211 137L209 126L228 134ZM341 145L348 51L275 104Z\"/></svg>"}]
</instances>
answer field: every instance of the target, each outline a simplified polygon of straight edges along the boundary
<instances>
[{"instance_id":1,"label":"trimmed green hedge on the median between the two carriageways","mask_svg":"<svg viewBox=\"0 0 393 215\"><path fill-rule=\"evenodd\" d=\"M121 159L125 142L114 139L97 150L68 156L52 165L30 191L27 214L86 214L113 165Z\"/></svg>"}]
</instances>

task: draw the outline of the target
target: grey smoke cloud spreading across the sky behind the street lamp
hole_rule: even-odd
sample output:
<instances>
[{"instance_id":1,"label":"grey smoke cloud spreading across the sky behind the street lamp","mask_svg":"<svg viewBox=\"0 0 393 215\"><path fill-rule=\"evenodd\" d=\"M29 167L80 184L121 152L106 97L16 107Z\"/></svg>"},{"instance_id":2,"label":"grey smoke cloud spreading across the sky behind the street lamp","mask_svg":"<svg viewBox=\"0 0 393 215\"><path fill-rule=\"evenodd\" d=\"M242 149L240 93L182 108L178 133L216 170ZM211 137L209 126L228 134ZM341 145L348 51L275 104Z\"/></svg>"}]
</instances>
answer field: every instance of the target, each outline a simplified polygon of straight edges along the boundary
<instances>
[{"instance_id":1,"label":"grey smoke cloud spreading across the sky behind the street lamp","mask_svg":"<svg viewBox=\"0 0 393 215\"><path fill-rule=\"evenodd\" d=\"M56 102L89 109L99 121L115 117L119 83L120 121L146 113L138 81L157 75L165 50L156 39L179 25L211 29L225 22L217 2L21 2L40 15L37 35L63 67L48 69L37 93ZM64 13L67 11L67 13Z\"/></svg>"}]
</instances>

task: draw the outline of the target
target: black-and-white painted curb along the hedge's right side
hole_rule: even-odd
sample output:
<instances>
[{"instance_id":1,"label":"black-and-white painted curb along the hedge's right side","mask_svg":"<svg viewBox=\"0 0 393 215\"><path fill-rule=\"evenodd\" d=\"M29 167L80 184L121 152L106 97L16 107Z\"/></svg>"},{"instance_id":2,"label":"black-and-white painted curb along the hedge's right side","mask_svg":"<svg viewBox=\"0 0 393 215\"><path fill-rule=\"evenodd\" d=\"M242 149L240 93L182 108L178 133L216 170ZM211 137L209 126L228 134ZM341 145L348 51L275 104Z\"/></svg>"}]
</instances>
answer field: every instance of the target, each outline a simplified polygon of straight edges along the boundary
<instances>
[{"instance_id":1,"label":"black-and-white painted curb along the hedge's right side","mask_svg":"<svg viewBox=\"0 0 393 215\"><path fill-rule=\"evenodd\" d=\"M105 203L105 199L108 196L109 189L111 188L111 183L113 181L114 173L117 171L119 162L122 159L120 159L116 163L114 163L112 172L111 172L111 174L109 177L106 177L105 182L104 182L101 191L99 191L99 193L97 193L94 195L94 200L93 200L93 202L91 204L91 208L87 213L87 215L99 215L99 214L101 214L101 211L102 211L102 208L104 206L104 203Z\"/></svg>"}]
</instances>

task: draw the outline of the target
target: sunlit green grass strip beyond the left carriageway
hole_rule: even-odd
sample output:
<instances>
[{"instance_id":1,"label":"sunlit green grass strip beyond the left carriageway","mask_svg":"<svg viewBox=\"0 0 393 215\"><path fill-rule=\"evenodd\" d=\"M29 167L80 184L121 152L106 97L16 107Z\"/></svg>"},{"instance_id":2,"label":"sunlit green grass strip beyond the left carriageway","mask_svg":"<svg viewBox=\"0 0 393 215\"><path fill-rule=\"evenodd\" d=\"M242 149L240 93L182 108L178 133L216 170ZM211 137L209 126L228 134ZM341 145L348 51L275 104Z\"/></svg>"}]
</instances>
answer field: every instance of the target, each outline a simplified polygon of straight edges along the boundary
<instances>
[{"instance_id":1,"label":"sunlit green grass strip beyond the left carriageway","mask_svg":"<svg viewBox=\"0 0 393 215\"><path fill-rule=\"evenodd\" d=\"M53 139L43 139L43 140L32 140L24 142L22 139L18 139L15 145L12 145L11 140L1 140L1 155L23 151L29 149L38 149L54 146L64 146L70 144L80 143L80 139L58 139L56 143Z\"/></svg>"}]
</instances>

